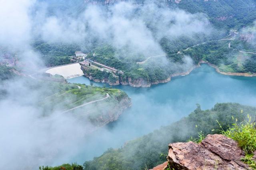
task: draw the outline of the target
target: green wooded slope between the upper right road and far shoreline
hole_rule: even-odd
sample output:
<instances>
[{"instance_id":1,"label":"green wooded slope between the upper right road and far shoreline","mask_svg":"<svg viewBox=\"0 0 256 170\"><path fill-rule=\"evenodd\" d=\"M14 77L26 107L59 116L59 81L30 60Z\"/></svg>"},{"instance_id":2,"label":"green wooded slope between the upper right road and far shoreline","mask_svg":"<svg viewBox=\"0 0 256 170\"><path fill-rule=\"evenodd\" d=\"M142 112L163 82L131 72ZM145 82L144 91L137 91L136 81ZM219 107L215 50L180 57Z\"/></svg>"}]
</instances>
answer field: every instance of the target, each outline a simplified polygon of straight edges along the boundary
<instances>
[{"instance_id":1,"label":"green wooded slope between the upper right road and far shoreline","mask_svg":"<svg viewBox=\"0 0 256 170\"><path fill-rule=\"evenodd\" d=\"M238 39L235 41L208 41L181 52L192 58L203 59L211 64L215 64L222 72L255 73L256 54L239 52L238 42L245 43ZM228 47L229 43L231 48Z\"/></svg>"}]
</instances>

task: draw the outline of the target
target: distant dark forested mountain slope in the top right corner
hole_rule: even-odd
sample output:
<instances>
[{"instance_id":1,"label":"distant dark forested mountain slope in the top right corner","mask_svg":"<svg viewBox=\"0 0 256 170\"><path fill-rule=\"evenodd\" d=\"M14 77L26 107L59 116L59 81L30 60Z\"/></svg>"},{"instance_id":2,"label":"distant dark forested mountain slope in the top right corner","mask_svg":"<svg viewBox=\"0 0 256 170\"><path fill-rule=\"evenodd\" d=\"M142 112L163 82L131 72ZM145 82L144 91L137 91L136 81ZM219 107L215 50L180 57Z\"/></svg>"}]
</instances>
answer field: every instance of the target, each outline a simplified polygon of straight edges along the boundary
<instances>
[{"instance_id":1,"label":"distant dark forested mountain slope in the top right corner","mask_svg":"<svg viewBox=\"0 0 256 170\"><path fill-rule=\"evenodd\" d=\"M178 7L192 14L202 12L216 27L230 29L242 28L256 18L254 0L182 0L179 4L167 2L171 7Z\"/></svg>"}]
</instances>

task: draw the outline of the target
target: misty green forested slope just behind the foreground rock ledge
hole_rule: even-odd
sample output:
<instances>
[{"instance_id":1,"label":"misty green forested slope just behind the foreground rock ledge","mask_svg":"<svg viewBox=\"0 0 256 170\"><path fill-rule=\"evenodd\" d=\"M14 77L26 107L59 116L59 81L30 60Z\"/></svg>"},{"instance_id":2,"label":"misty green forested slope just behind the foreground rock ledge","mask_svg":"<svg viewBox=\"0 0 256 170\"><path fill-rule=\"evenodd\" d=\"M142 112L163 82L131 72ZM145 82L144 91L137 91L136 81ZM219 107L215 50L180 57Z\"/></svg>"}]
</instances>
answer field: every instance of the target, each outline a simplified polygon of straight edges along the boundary
<instances>
[{"instance_id":1,"label":"misty green forested slope just behind the foreground rock ledge","mask_svg":"<svg viewBox=\"0 0 256 170\"><path fill-rule=\"evenodd\" d=\"M160 157L160 154L166 153L169 143L185 142L191 136L196 138L198 131L202 131L204 135L221 133L222 129L226 131L230 128L229 125L233 123L232 116L237 117L238 122L241 122L247 114L253 115L255 112L255 107L235 103L216 104L210 110L201 110L198 105L188 117L129 141L119 149L108 149L102 156L86 161L84 169L143 170L145 165L150 169L166 161L163 156Z\"/></svg>"}]
</instances>

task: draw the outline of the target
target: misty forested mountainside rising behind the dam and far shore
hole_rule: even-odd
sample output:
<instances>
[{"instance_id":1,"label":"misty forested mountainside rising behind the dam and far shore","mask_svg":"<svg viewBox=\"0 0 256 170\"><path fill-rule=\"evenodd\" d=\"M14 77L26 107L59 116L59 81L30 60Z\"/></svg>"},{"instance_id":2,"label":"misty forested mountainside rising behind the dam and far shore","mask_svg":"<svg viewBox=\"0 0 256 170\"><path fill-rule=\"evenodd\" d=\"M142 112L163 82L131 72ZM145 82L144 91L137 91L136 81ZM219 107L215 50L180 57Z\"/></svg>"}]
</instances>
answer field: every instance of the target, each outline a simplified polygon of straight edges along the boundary
<instances>
[{"instance_id":1,"label":"misty forested mountainside rising behind the dam and far shore","mask_svg":"<svg viewBox=\"0 0 256 170\"><path fill-rule=\"evenodd\" d=\"M64 15L74 20L79 18L76 24L79 25L78 27L85 25L85 27L83 26L85 34L98 35L84 37L84 39L81 37L81 41L76 43L72 43L73 40L65 43L48 43L46 41L34 42L33 47L42 54L43 60L47 66L70 63L67 56L73 55L74 51L82 50L85 53L89 53L89 59L124 71L120 83L134 84L134 86L142 86L141 84L150 86L159 81L165 82L172 75L184 74L202 59L217 65L224 72L254 72L254 68L246 69L241 67L241 64L239 65L230 61L230 57L237 56L237 54L232 52L231 49L226 49L226 52L223 53L223 48L228 48L227 44L223 45L223 43L220 43L217 47L210 42L212 40L223 39L228 35L231 29L240 30L243 27L252 25L253 21L256 20L256 4L254 0L76 0L67 3L62 0L40 0L40 2L47 4L49 16ZM112 23L112 20L116 19L114 9L126 8L122 7L122 5L115 6L118 2L134 3L134 9L136 10L132 10L132 13L128 11L127 14L120 14L121 17L123 17L122 20L127 20L127 22L131 22L130 24L133 22L132 18L143 21L146 26L144 28L145 30L138 28L138 32L149 31L153 37L147 41L154 41L155 45L152 45L152 47L159 45L160 49L156 47L156 49L152 50L152 47L148 46L145 42L139 45L139 47L136 47L132 43L128 43L131 40L128 40L127 37L122 38L124 42L116 42L115 38L113 39L113 37L119 36L119 33L114 30L124 29L124 27L118 26L118 28L116 25L113 25L115 23ZM88 8L90 5L100 6L100 8L95 9L100 10L100 18L93 19L93 22L101 24L100 22L106 20L110 23L110 25L106 26L106 30L104 30L104 27L100 28L100 30L104 30L102 35L99 35L97 32L94 33L95 26L90 23L90 20L84 20L81 17L92 12L86 10L90 9ZM187 14L183 14L182 11L179 10L184 10ZM173 11L177 14L173 14ZM146 12L148 12L148 16L145 15ZM171 18L169 21L165 21L166 14ZM172 19L173 17L174 19ZM191 21L184 19L186 17ZM101 19L102 21L98 21ZM180 23L178 23L178 20L184 20L182 21L185 23L183 27L188 27L188 29L186 29L187 33L179 33L180 28L177 27L177 25ZM210 21L210 24L207 23L208 21ZM73 21L68 20L68 22L68 24L71 24ZM104 25L106 25L106 23L104 23L103 26ZM159 27L159 25L163 25L162 28ZM107 29L107 27L111 29ZM169 30L164 27L171 27L172 32L168 34ZM196 29L193 30L191 29L192 27L203 27L203 31L200 31L200 29L198 29L199 31ZM73 28L74 27L71 29ZM137 28L135 26L132 29ZM82 31L81 35L84 34L83 30L79 31ZM162 35L161 31L166 33ZM102 31L100 34L101 33ZM104 36L106 38L100 38ZM131 37L130 39L134 38ZM217 57L216 53L212 52L206 57L205 55L207 54L203 55L203 53L200 53L202 49L196 49L193 52L182 51L188 47L206 41L208 41L207 44L195 48L207 46L209 51L216 51L216 53L218 53ZM140 46L142 46L142 48ZM214 50L211 48L214 48ZM179 53L180 51L182 53ZM164 58L153 57L163 55L164 53L166 54L168 62L166 62ZM189 58L192 60L188 61ZM217 60L218 62L216 62ZM140 64L140 62L143 64ZM231 64L233 65L231 66ZM250 63L246 65L252 67ZM89 70L87 72L90 74L95 71ZM104 80L104 78L106 78L104 76L105 73L102 72L101 75L99 73L100 72L92 74L92 77L97 80Z\"/></svg>"}]
</instances>

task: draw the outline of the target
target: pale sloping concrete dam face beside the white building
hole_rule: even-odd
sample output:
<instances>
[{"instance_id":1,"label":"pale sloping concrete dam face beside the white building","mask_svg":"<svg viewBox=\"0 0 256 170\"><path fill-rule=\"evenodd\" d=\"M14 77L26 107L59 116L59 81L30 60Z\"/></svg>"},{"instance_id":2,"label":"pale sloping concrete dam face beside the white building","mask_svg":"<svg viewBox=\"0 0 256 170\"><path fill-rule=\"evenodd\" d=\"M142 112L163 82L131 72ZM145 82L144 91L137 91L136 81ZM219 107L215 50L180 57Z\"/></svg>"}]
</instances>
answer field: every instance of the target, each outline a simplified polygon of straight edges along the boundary
<instances>
[{"instance_id":1,"label":"pale sloping concrete dam face beside the white building","mask_svg":"<svg viewBox=\"0 0 256 170\"><path fill-rule=\"evenodd\" d=\"M59 74L65 79L84 75L79 63L50 68L49 70L46 70L46 73L50 73L52 75Z\"/></svg>"}]
</instances>

